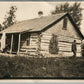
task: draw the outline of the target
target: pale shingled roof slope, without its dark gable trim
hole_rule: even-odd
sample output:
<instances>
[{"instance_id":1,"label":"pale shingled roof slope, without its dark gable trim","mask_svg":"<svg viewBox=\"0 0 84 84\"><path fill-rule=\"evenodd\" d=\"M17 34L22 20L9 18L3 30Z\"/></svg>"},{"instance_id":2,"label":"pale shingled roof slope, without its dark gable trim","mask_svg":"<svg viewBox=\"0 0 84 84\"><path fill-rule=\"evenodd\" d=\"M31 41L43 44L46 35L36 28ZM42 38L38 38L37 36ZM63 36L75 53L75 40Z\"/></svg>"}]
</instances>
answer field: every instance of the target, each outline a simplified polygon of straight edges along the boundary
<instances>
[{"instance_id":1,"label":"pale shingled roof slope, without its dark gable trim","mask_svg":"<svg viewBox=\"0 0 84 84\"><path fill-rule=\"evenodd\" d=\"M30 20L25 20L18 22L7 29L1 31L1 33L19 33L19 32L24 32L24 31L41 31L44 29L46 26L49 24L52 24L54 21L57 19L61 18L64 16L65 13L61 14L56 14L56 15L50 15L50 16L43 16L35 19L30 19Z\"/></svg>"}]
</instances>

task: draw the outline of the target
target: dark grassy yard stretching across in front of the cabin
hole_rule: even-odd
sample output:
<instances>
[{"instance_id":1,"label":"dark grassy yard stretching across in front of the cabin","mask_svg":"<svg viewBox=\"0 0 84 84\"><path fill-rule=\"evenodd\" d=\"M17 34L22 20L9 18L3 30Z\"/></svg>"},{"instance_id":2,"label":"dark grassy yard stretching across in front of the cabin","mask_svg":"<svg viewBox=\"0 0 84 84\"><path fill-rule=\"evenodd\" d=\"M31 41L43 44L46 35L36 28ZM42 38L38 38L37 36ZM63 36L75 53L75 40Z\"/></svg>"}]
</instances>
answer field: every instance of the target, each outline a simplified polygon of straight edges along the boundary
<instances>
[{"instance_id":1,"label":"dark grassy yard stretching across in front of the cabin","mask_svg":"<svg viewBox=\"0 0 84 84\"><path fill-rule=\"evenodd\" d=\"M29 58L0 56L0 78L84 77L84 58Z\"/></svg>"}]
</instances>

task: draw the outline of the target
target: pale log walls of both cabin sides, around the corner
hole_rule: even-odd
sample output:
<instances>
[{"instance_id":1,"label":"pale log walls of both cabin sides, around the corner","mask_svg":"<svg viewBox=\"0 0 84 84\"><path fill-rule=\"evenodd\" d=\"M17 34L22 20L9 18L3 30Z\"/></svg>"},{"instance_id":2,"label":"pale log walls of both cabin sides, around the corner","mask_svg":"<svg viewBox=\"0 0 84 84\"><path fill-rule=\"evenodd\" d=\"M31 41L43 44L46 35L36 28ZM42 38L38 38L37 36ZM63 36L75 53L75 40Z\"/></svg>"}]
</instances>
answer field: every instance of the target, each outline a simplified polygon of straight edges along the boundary
<instances>
[{"instance_id":1,"label":"pale log walls of both cabin sides, around the corner","mask_svg":"<svg viewBox=\"0 0 84 84\"><path fill-rule=\"evenodd\" d=\"M42 34L36 34L33 33L30 35L30 45L26 45L26 39L21 39L20 43L20 53L21 54L27 54L27 55L38 55L40 52L41 54L50 54L49 53L49 45L50 40L52 38L52 34L48 33L42 33ZM58 48L59 52L58 54L61 54L63 56L73 56L73 53L71 51L71 45L73 40L76 40L77 43L77 56L81 56L81 40L78 38L73 37L65 37L63 35L58 35ZM60 56L60 55L59 55Z\"/></svg>"}]
</instances>

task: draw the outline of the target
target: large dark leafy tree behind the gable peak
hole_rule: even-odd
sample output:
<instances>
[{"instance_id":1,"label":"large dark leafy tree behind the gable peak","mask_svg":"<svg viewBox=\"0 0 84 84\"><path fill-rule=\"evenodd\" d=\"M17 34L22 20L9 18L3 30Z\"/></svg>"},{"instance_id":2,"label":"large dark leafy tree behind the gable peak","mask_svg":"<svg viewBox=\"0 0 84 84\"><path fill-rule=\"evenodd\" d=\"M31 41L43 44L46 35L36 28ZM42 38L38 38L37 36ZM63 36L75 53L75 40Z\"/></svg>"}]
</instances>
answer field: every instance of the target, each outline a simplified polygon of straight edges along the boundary
<instances>
[{"instance_id":1,"label":"large dark leafy tree behind the gable peak","mask_svg":"<svg viewBox=\"0 0 84 84\"><path fill-rule=\"evenodd\" d=\"M81 3L74 3L72 6L69 3L61 4L60 6L56 6L56 9L52 11L52 14L68 12L73 21L80 29L81 18L82 18L82 8L80 8Z\"/></svg>"}]
</instances>

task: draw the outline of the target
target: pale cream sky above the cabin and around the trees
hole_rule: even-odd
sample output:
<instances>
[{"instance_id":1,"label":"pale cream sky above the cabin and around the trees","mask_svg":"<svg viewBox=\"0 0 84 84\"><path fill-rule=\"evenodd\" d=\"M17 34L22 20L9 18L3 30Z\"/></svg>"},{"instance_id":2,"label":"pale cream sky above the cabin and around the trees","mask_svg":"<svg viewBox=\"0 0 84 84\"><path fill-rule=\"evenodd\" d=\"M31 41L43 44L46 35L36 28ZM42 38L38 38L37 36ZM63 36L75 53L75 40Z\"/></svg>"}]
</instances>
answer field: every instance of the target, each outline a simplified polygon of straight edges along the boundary
<instances>
[{"instance_id":1,"label":"pale cream sky above the cabin and around the trees","mask_svg":"<svg viewBox=\"0 0 84 84\"><path fill-rule=\"evenodd\" d=\"M59 4L63 4L65 1L8 1L8 2L0 2L0 23L4 21L5 15L7 15L7 12L9 11L9 8L11 6L16 6L17 11L15 13L16 20L22 21L22 20L28 20L32 18L37 18L38 11L43 11L44 16L48 16L51 14L51 11L55 9L55 7ZM69 2L70 5L74 3ZM84 8L84 1L80 2L81 8ZM82 11L82 15L84 14L84 10ZM81 22L81 32L84 34L84 15L82 16L82 22Z\"/></svg>"}]
</instances>

